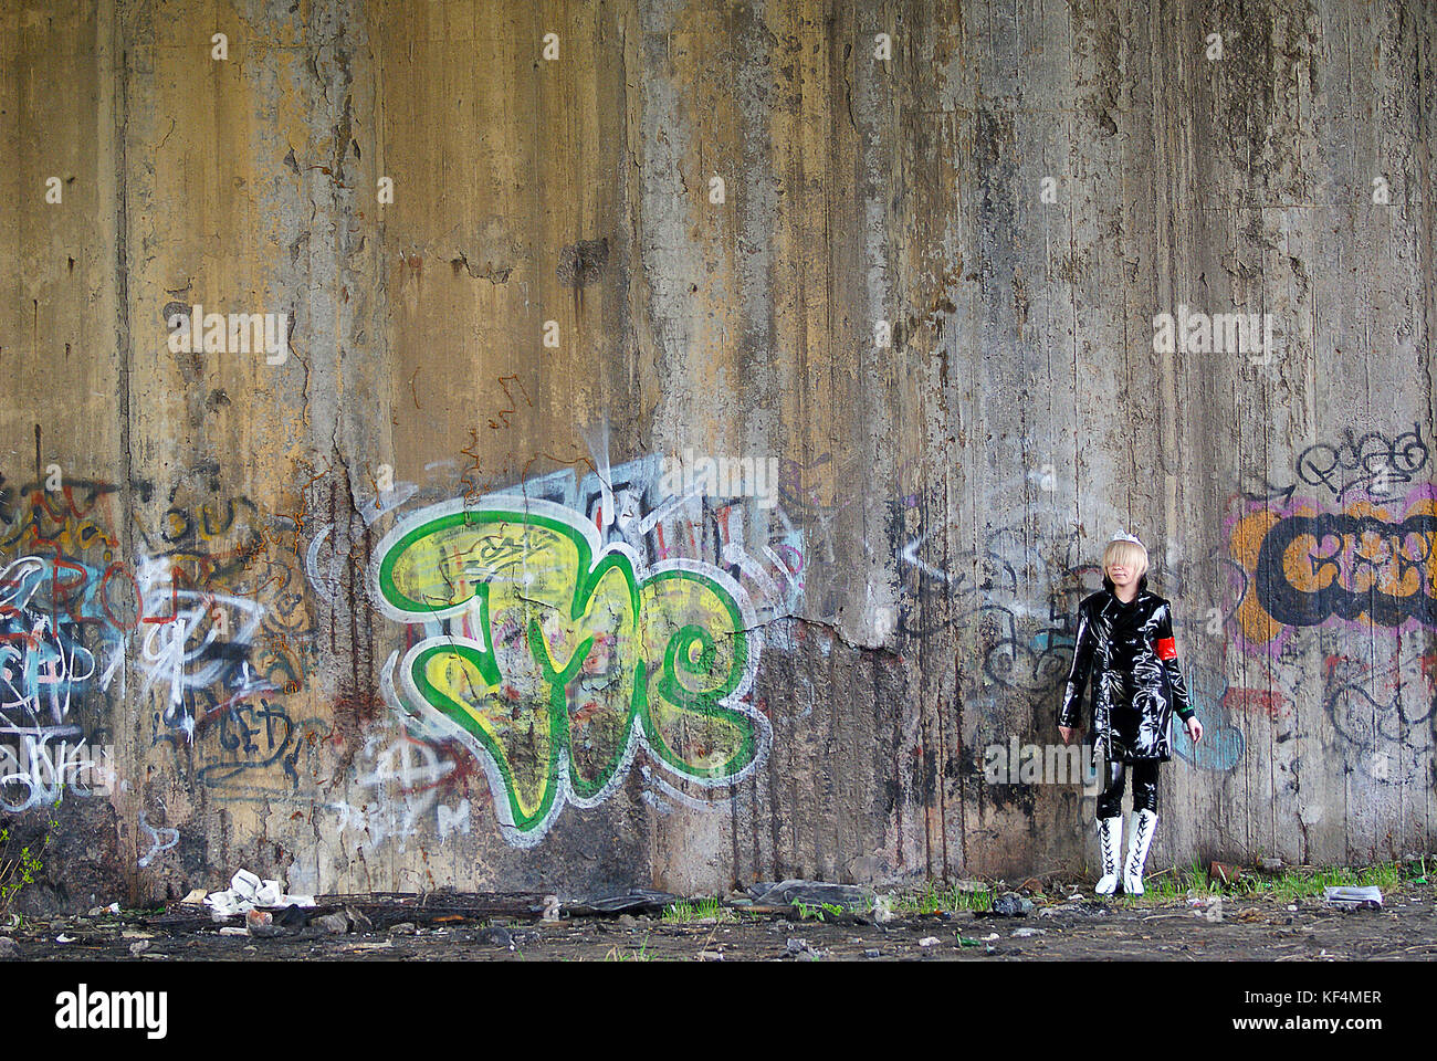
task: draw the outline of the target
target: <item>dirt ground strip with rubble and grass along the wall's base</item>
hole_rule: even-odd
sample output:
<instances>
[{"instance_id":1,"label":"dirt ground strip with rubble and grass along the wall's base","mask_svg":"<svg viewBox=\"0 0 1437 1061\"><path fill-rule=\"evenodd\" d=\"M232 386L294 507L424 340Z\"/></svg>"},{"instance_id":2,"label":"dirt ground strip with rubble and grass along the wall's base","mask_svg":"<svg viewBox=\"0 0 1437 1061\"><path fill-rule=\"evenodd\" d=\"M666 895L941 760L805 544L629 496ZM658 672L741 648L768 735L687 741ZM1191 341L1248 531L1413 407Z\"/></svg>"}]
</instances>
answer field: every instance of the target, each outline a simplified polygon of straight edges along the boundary
<instances>
[{"instance_id":1,"label":"dirt ground strip with rubble and grass along the wall's base","mask_svg":"<svg viewBox=\"0 0 1437 1061\"><path fill-rule=\"evenodd\" d=\"M1050 888L1059 891L1058 888ZM726 910L720 919L674 923L650 916L484 914L461 903L435 911L414 900L349 899L349 930L335 920L262 929L266 934L221 934L195 907L151 913L50 919L0 930L14 946L0 957L76 960L1431 960L1437 959L1437 888L1407 884L1381 909L1339 910L1321 899L1289 904L1273 899L1224 897L1194 909L1118 897L1099 901L1083 890L1035 896L1022 916L958 911L898 914L877 924L869 916ZM1296 909L1290 909L1295 906ZM525 907L519 907L525 909ZM239 920L233 924L240 924ZM273 933L273 934L269 934ZM65 942L59 942L59 940ZM17 949L17 953L16 953Z\"/></svg>"}]
</instances>

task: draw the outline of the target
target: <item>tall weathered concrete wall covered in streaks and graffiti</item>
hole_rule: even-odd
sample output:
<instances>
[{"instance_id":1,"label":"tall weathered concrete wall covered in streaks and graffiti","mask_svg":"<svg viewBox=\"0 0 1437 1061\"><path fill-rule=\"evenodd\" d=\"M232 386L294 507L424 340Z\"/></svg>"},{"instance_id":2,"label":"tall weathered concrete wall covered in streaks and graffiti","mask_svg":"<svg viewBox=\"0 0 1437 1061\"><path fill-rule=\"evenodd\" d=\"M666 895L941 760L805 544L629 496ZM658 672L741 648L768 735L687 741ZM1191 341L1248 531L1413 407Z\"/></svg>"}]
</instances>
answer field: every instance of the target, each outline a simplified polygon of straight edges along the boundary
<instances>
[{"instance_id":1,"label":"tall weathered concrete wall covered in streaks and graffiti","mask_svg":"<svg viewBox=\"0 0 1437 1061\"><path fill-rule=\"evenodd\" d=\"M984 762L1119 528L1210 735L1150 868L1428 848L1434 66L1423 0L6 4L0 726L116 778L11 771L46 901L1092 861Z\"/></svg>"}]
</instances>

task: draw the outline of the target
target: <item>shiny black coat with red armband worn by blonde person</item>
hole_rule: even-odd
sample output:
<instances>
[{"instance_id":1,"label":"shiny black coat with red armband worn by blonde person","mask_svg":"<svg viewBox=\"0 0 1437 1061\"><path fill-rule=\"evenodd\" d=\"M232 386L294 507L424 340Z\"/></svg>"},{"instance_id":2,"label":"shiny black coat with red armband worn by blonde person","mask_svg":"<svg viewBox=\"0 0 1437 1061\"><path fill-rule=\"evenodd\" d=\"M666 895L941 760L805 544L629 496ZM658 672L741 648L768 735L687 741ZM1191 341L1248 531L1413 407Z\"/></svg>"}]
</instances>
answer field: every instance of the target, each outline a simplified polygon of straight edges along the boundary
<instances>
[{"instance_id":1,"label":"shiny black coat with red armband worn by blonde person","mask_svg":"<svg viewBox=\"0 0 1437 1061\"><path fill-rule=\"evenodd\" d=\"M1193 715L1173 641L1171 605L1147 591L1147 577L1138 581L1131 604L1117 598L1108 579L1104 587L1078 605L1078 644L1058 725L1079 725L1091 676L1095 753L1101 749L1121 762L1165 762L1173 758L1174 712L1184 722Z\"/></svg>"}]
</instances>

